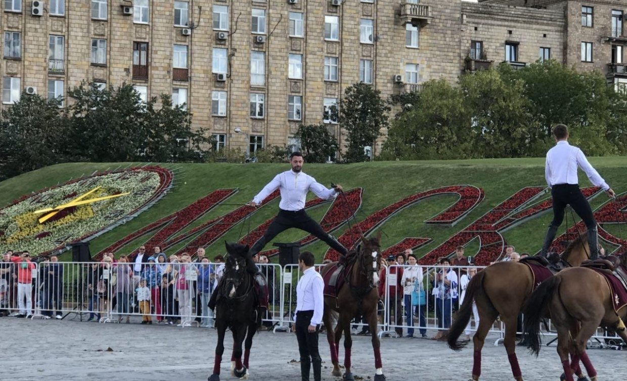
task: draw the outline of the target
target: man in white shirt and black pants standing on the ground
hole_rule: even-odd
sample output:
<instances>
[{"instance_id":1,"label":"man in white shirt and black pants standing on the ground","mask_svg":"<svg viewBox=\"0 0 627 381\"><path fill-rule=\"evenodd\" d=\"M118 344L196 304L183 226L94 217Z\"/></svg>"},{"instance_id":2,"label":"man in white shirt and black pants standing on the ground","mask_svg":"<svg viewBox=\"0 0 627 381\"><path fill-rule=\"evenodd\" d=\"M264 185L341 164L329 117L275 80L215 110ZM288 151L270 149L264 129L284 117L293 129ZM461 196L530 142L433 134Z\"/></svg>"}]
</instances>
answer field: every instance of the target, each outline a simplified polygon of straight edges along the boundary
<instances>
[{"instance_id":1,"label":"man in white shirt and black pants standing on the ground","mask_svg":"<svg viewBox=\"0 0 627 381\"><path fill-rule=\"evenodd\" d=\"M313 363L314 381L320 381L322 360L318 352L318 333L324 310L324 280L314 268L314 255L311 251L300 253L298 268L303 275L296 286L294 330L300 352L300 375L302 381L309 381L310 365Z\"/></svg>"}]
</instances>

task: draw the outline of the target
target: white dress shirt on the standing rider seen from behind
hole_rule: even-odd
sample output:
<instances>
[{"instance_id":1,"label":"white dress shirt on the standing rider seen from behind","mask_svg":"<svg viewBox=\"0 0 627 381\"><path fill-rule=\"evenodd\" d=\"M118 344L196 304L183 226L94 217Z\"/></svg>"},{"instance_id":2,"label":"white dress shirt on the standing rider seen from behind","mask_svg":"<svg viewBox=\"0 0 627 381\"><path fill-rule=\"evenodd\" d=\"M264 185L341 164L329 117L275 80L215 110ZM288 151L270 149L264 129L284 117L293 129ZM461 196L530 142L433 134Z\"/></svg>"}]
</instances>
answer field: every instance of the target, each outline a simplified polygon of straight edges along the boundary
<instances>
[{"instance_id":1,"label":"white dress shirt on the standing rider seen from behind","mask_svg":"<svg viewBox=\"0 0 627 381\"><path fill-rule=\"evenodd\" d=\"M590 165L586 155L576 146L569 145L566 140L558 141L547 152L544 174L549 188L558 184L579 184L577 167L586 173L591 183L600 186L603 190L609 189L608 183Z\"/></svg>"}]
</instances>

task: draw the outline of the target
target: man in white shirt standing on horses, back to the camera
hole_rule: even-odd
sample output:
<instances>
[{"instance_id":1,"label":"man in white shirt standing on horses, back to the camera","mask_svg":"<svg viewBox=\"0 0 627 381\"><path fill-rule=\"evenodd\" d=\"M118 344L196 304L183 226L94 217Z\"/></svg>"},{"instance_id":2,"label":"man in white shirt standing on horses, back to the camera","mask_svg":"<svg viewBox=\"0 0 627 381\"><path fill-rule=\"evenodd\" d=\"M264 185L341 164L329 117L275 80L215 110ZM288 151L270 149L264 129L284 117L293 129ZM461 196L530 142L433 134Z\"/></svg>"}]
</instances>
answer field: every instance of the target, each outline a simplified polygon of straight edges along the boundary
<instances>
[{"instance_id":1,"label":"man in white shirt standing on horses, back to the camera","mask_svg":"<svg viewBox=\"0 0 627 381\"><path fill-rule=\"evenodd\" d=\"M544 238L540 255L547 255L556 236L557 228L564 220L564 209L566 205L570 205L586 224L590 259L594 260L599 255L597 224L590 204L579 190L577 167L586 173L591 183L603 188L609 197L615 197L616 194L590 165L586 155L579 148L568 144L568 128L564 124L557 124L553 128L553 136L557 144L547 152L545 165L545 177L553 198L553 221Z\"/></svg>"}]
</instances>

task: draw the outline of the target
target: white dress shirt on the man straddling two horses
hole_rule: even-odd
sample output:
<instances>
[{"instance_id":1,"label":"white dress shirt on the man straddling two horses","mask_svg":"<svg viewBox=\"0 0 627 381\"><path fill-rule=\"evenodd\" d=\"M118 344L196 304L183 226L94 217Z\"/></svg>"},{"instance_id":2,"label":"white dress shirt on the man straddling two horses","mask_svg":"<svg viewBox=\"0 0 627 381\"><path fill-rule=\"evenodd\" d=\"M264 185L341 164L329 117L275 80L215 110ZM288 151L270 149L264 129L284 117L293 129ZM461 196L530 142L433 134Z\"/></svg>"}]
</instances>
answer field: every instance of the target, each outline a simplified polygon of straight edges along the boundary
<instances>
[{"instance_id":1,"label":"white dress shirt on the man straddling two horses","mask_svg":"<svg viewBox=\"0 0 627 381\"><path fill-rule=\"evenodd\" d=\"M281 202L278 207L283 210L297 211L305 208L305 199L308 191L312 191L323 200L329 200L337 195L335 190L327 189L315 181L315 178L303 172L295 173L292 170L279 173L264 186L258 195L253 198L257 205L261 204L273 191L281 189Z\"/></svg>"}]
</instances>

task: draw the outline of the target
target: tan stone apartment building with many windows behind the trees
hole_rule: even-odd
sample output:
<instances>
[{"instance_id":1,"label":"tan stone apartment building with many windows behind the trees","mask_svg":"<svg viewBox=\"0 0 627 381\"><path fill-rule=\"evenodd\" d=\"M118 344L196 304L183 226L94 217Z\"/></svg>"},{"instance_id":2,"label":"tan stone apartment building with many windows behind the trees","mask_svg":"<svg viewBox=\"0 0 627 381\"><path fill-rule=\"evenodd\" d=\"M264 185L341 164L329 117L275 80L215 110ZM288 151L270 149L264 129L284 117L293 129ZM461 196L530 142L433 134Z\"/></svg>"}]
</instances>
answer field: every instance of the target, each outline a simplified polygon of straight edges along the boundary
<instances>
[{"instance_id":1,"label":"tan stone apartment building with many windows behind the trees","mask_svg":"<svg viewBox=\"0 0 627 381\"><path fill-rule=\"evenodd\" d=\"M84 80L126 82L143 98L168 93L185 103L219 147L252 156L266 145L297 146L298 125L322 121L342 143L324 109L359 81L389 96L539 58L622 79L622 58L608 66L610 46L622 55L622 29L607 25L624 3L4 0L3 107L23 91L54 97ZM594 8L591 27L581 25L581 4ZM591 62L579 59L580 40L592 44Z\"/></svg>"}]
</instances>

